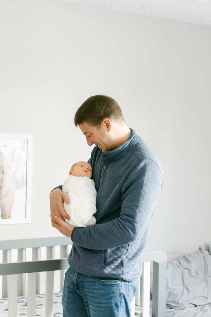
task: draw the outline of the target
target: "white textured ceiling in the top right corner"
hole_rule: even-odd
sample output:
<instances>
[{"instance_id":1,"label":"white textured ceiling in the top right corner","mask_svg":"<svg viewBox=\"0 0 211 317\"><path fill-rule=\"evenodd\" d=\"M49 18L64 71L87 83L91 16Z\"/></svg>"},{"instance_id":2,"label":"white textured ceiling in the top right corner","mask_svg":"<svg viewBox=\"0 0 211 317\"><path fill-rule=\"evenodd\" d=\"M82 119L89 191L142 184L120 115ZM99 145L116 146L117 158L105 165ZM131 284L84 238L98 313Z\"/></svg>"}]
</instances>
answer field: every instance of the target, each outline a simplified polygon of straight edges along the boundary
<instances>
[{"instance_id":1,"label":"white textured ceiling in the top right corner","mask_svg":"<svg viewBox=\"0 0 211 317\"><path fill-rule=\"evenodd\" d=\"M211 26L211 0L53 0Z\"/></svg>"}]
</instances>

